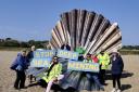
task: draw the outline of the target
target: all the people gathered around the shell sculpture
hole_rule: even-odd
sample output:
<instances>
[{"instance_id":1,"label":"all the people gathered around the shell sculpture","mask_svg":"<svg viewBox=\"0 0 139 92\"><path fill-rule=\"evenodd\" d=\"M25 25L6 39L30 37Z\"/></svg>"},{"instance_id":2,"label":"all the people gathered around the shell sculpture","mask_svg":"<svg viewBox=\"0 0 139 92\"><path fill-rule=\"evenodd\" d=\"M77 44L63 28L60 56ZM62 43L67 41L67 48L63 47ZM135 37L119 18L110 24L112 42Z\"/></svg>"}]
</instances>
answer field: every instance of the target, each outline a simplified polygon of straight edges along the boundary
<instances>
[{"instance_id":1,"label":"all the people gathered around the shell sculpture","mask_svg":"<svg viewBox=\"0 0 139 92\"><path fill-rule=\"evenodd\" d=\"M71 47L68 44L63 44L61 47L62 50L68 50L71 51ZM29 63L33 58L33 52L35 51L35 47L31 47L30 52L27 54L26 51L22 51L15 60L15 62L12 64L11 69L14 69L16 71L16 80L14 83L15 89L24 89L25 88L25 70L29 66ZM104 50L101 50L100 53L90 54L88 53L85 57L85 50L81 47L78 47L75 49L76 52L79 53L78 61L83 61L84 63L99 63L100 65L100 71L99 73L91 73L86 71L86 77L89 81L94 81L96 84L100 88L100 90L104 91L103 86L105 84L105 70L109 68L109 65L112 64L111 73L112 73L112 79L113 79L113 90L112 92L121 92L121 76L124 68L123 60L119 55L119 53L114 50L111 54L111 56L104 52ZM59 57L53 56L52 62L48 68L48 70L45 73L45 76L41 78L40 82L48 83L46 92L50 92L50 89L53 83L58 83L59 80L64 78L64 75L62 74L62 65L59 63ZM30 80L33 79L33 76L30 76ZM117 82L117 88L116 88Z\"/></svg>"}]
</instances>

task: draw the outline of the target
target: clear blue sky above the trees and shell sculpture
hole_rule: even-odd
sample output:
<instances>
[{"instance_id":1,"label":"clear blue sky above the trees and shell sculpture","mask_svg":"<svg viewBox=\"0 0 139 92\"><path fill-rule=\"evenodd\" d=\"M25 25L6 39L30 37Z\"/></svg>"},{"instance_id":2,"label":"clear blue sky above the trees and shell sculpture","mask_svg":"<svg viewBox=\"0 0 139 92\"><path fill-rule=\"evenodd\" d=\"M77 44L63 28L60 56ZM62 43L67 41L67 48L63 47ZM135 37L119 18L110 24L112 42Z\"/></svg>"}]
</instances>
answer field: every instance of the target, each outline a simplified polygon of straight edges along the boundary
<instances>
[{"instance_id":1,"label":"clear blue sky above the trees and shell sculpture","mask_svg":"<svg viewBox=\"0 0 139 92\"><path fill-rule=\"evenodd\" d=\"M49 40L60 14L73 9L117 22L123 44L139 44L139 0L0 0L0 38Z\"/></svg>"}]
</instances>

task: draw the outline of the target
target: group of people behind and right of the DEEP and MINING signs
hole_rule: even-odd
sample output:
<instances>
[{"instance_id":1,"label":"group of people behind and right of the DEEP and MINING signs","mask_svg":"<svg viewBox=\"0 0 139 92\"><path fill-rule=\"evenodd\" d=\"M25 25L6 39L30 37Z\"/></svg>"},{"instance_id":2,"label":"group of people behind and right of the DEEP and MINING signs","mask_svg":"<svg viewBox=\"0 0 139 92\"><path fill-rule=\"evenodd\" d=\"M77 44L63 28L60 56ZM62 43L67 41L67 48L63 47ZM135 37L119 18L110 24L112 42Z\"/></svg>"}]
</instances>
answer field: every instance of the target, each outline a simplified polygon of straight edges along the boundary
<instances>
[{"instance_id":1,"label":"group of people behind and right of the DEEP and MINING signs","mask_svg":"<svg viewBox=\"0 0 139 92\"><path fill-rule=\"evenodd\" d=\"M62 50L68 50L71 51L71 47L65 43L61 48ZM102 49L100 53L94 54L87 54L86 57L84 57L84 54L86 53L86 50L81 47L80 43L78 43L77 48L74 50L75 52L79 53L78 61L84 61L85 63L99 63L100 65L100 71L99 74L94 73L86 73L86 76L89 80L93 79L93 81L100 87L101 90L104 91L103 86L105 86L105 71L108 70L110 64L112 64L111 67L111 74L112 74L112 80L113 80L113 90L112 92L121 92L122 86L121 86L121 76L122 71L124 69L124 63L123 58L117 52L116 49L114 49L111 53L111 56L104 52ZM117 88L116 88L117 82Z\"/></svg>"}]
</instances>

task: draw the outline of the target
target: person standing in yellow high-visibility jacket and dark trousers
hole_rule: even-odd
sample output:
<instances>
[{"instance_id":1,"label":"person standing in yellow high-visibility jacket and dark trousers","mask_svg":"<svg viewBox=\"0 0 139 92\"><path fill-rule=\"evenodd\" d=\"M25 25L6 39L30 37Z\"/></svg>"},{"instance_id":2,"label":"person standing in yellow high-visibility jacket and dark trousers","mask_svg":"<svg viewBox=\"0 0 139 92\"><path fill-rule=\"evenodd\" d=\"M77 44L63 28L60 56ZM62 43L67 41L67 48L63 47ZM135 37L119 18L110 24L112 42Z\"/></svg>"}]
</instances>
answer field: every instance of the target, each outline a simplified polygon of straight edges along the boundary
<instances>
[{"instance_id":1,"label":"person standing in yellow high-visibility jacket and dark trousers","mask_svg":"<svg viewBox=\"0 0 139 92\"><path fill-rule=\"evenodd\" d=\"M99 64L100 64L100 81L102 84L105 84L105 70L110 65L110 56L106 52L101 51L98 54Z\"/></svg>"}]
</instances>

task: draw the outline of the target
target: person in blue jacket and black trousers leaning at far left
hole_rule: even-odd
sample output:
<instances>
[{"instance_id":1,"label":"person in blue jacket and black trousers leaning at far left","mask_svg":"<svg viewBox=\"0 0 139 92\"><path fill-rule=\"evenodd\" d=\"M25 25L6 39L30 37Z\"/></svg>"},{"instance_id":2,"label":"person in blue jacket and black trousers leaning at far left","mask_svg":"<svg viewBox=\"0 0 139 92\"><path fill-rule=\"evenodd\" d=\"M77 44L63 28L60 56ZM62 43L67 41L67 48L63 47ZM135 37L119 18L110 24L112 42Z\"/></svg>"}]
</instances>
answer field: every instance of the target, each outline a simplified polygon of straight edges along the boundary
<instances>
[{"instance_id":1,"label":"person in blue jacket and black trousers leaning at far left","mask_svg":"<svg viewBox=\"0 0 139 92\"><path fill-rule=\"evenodd\" d=\"M16 71L16 80L14 82L15 89L24 89L25 88L25 69L27 69L27 58L26 58L26 51L23 50L21 53L17 54L16 60L11 65L11 69Z\"/></svg>"}]
</instances>

